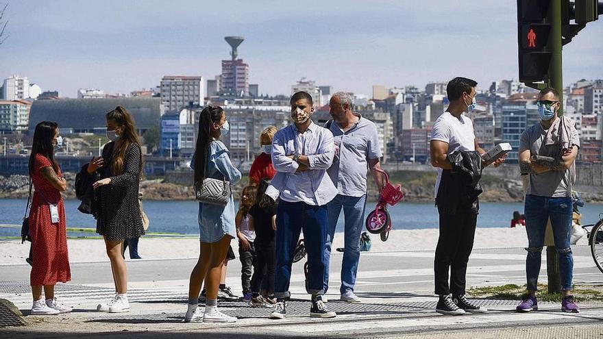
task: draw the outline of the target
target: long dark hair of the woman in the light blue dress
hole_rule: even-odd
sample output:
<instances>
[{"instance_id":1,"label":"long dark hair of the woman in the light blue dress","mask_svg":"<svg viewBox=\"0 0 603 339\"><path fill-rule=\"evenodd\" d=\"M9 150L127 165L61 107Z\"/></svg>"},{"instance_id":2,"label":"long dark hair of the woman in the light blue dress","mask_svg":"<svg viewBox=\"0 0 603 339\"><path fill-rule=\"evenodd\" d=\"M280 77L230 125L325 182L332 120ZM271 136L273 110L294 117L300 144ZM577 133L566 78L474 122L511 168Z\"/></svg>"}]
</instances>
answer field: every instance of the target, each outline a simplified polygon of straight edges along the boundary
<instances>
[{"instance_id":1,"label":"long dark hair of the woman in the light blue dress","mask_svg":"<svg viewBox=\"0 0 603 339\"><path fill-rule=\"evenodd\" d=\"M197 134L197 145L195 145L195 183L206 178L205 173L208 162L208 149L212 142L212 125L220 123L224 110L217 105L208 105L201 111L199 116L199 132Z\"/></svg>"}]
</instances>

